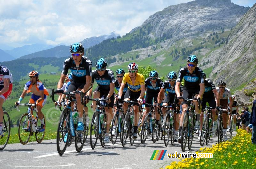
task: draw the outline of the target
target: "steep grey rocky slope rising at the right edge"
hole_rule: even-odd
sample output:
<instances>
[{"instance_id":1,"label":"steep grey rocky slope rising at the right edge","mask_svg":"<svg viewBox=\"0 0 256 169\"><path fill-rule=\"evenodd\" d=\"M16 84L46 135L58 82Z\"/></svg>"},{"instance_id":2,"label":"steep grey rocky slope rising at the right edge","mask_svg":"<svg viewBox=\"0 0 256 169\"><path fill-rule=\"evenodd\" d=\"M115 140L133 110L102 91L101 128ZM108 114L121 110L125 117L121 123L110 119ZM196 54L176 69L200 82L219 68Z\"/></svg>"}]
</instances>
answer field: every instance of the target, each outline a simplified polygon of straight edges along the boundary
<instances>
[{"instance_id":1,"label":"steep grey rocky slope rising at the right edge","mask_svg":"<svg viewBox=\"0 0 256 169\"><path fill-rule=\"evenodd\" d=\"M217 81L238 87L256 77L256 4L241 18L226 39L212 70Z\"/></svg>"}]
</instances>

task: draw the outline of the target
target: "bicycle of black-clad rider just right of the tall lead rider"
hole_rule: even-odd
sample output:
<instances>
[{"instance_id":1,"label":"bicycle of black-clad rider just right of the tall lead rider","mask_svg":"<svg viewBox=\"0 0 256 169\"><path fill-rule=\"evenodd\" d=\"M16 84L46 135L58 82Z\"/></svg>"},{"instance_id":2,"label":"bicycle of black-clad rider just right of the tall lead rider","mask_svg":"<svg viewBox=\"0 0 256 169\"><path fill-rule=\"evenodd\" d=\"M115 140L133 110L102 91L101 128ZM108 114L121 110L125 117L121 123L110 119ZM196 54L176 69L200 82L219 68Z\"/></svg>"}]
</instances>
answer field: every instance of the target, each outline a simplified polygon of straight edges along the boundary
<instances>
[{"instance_id":1,"label":"bicycle of black-clad rider just right of the tall lead rider","mask_svg":"<svg viewBox=\"0 0 256 169\"><path fill-rule=\"evenodd\" d=\"M91 148L94 149L98 138L100 138L100 144L102 147L105 146L104 143L104 137L107 130L106 125L106 112L105 107L103 105L100 105L100 102L106 102L108 107L108 100L105 99L88 99L91 101L96 101L96 110L93 113L92 116L92 122L90 127L90 145ZM109 108L109 107L108 107ZM94 137L93 137L94 135Z\"/></svg>"}]
</instances>

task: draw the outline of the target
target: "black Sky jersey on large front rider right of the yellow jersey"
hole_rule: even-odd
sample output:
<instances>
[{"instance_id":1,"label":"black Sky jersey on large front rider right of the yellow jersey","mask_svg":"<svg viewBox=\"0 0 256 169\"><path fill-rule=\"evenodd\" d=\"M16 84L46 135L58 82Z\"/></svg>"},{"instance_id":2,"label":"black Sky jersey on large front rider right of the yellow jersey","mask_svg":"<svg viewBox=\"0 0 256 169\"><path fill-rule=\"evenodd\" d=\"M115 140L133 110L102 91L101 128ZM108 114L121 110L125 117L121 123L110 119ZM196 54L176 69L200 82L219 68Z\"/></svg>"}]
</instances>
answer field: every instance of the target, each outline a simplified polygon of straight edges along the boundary
<instances>
[{"instance_id":1,"label":"black Sky jersey on large front rider right of the yellow jersey","mask_svg":"<svg viewBox=\"0 0 256 169\"><path fill-rule=\"evenodd\" d=\"M187 67L181 68L177 82L181 83L183 78L184 78L184 90L200 89L199 84L204 83L203 71L199 67L196 67L195 71L192 74L189 73Z\"/></svg>"}]
</instances>

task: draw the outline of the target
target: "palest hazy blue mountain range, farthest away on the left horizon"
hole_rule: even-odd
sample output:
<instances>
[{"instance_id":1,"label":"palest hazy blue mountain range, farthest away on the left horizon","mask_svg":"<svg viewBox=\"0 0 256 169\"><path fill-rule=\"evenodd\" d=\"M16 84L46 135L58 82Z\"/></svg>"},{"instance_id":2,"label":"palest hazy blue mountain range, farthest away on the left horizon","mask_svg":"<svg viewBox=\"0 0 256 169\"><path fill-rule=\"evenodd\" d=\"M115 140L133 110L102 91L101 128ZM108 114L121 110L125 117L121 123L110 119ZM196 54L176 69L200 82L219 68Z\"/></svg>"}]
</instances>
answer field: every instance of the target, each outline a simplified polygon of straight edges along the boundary
<instances>
[{"instance_id":1,"label":"palest hazy blue mountain range, farthest away on the left horizon","mask_svg":"<svg viewBox=\"0 0 256 169\"><path fill-rule=\"evenodd\" d=\"M28 55L34 52L38 52L41 50L46 50L53 48L52 45L46 45L46 44L33 44L33 45L24 45L19 48L14 48L12 50L6 50L5 52L14 56L15 58L19 58L20 56Z\"/></svg>"}]
</instances>

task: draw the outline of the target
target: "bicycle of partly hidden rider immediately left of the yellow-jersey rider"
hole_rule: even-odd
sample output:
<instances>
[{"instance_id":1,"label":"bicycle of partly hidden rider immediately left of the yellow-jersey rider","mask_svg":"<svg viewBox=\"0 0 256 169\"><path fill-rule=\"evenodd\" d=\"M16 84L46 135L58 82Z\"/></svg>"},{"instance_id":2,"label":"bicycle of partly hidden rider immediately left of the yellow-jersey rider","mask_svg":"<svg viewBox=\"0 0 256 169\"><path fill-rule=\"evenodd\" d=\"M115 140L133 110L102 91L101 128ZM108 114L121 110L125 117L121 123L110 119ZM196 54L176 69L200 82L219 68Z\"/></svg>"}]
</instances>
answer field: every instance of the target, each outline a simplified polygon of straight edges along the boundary
<instances>
[{"instance_id":1,"label":"bicycle of partly hidden rider immediately left of the yellow-jersey rider","mask_svg":"<svg viewBox=\"0 0 256 169\"><path fill-rule=\"evenodd\" d=\"M124 111L122 109L122 103L120 103L119 100L116 100L116 114L114 115L113 119L112 119L112 122L111 122L111 128L110 128L110 138L111 138L111 142L112 144L115 144L116 143L116 140L117 140L117 137L118 135L120 134L120 141L122 142L122 126L123 126L123 120L124 120ZM114 129L114 125L116 124L116 134L113 135L112 134L112 131Z\"/></svg>"}]
</instances>

